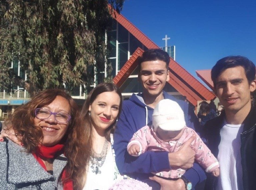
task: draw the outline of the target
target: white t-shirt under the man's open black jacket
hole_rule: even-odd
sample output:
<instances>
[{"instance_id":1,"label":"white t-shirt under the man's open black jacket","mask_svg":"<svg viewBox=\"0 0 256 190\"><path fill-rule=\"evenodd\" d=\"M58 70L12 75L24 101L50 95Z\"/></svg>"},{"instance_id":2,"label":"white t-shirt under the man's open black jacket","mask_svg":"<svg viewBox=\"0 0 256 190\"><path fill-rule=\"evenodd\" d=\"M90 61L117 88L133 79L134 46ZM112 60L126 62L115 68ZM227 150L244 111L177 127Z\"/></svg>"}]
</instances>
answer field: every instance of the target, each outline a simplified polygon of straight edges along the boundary
<instances>
[{"instance_id":1,"label":"white t-shirt under the man's open black jacket","mask_svg":"<svg viewBox=\"0 0 256 190\"><path fill-rule=\"evenodd\" d=\"M220 176L216 190L243 190L241 137L244 124L232 125L224 122L220 130L218 161Z\"/></svg>"}]
</instances>

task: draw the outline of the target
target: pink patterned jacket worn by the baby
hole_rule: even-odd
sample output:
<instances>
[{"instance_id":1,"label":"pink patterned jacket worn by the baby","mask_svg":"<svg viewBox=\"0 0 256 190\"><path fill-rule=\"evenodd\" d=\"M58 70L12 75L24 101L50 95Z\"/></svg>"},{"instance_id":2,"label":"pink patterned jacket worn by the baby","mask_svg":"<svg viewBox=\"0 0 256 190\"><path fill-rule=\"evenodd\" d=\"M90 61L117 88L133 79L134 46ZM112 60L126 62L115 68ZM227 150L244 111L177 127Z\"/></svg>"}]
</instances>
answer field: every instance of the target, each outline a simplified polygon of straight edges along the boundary
<instances>
[{"instance_id":1,"label":"pink patterned jacket worn by the baby","mask_svg":"<svg viewBox=\"0 0 256 190\"><path fill-rule=\"evenodd\" d=\"M195 159L197 162L205 168L206 172L212 172L219 167L219 163L210 149L204 144L200 136L191 128L184 127L182 136L176 141L165 142L157 137L151 126L144 126L133 134L130 140L127 150L132 144L138 144L140 146L140 155L145 151L168 151L176 152L180 146L186 142L192 135L196 136L195 140L191 143L191 148L195 151ZM165 170L158 173L154 173L161 177L166 178L180 178L186 170L181 168L171 168L171 170Z\"/></svg>"}]
</instances>

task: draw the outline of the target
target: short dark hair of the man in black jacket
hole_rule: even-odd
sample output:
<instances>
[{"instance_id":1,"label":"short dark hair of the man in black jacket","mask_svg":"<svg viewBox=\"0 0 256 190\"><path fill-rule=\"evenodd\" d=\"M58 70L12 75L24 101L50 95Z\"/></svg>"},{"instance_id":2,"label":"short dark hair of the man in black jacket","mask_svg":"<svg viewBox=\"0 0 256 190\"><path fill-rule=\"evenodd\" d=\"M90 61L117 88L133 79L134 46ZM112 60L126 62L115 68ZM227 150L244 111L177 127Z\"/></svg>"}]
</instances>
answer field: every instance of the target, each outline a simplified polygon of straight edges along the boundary
<instances>
[{"instance_id":1,"label":"short dark hair of the man in black jacket","mask_svg":"<svg viewBox=\"0 0 256 190\"><path fill-rule=\"evenodd\" d=\"M214 88L216 87L217 78L223 71L237 66L242 66L244 68L249 84L255 79L255 65L249 59L243 56L228 56L217 61L212 68L211 78Z\"/></svg>"}]
</instances>

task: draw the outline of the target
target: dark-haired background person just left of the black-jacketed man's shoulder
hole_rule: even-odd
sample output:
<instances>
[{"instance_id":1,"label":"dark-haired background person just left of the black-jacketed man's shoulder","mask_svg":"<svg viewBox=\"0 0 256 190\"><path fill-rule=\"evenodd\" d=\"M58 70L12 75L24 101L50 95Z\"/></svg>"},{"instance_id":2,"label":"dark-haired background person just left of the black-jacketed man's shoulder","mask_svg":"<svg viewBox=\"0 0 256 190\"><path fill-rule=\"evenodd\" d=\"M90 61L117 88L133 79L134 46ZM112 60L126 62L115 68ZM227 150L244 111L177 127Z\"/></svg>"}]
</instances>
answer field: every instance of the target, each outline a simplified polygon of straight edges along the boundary
<instances>
[{"instance_id":1,"label":"dark-haired background person just left of the black-jacketed man's shoulder","mask_svg":"<svg viewBox=\"0 0 256 190\"><path fill-rule=\"evenodd\" d=\"M209 103L207 103L206 101L200 102L199 105L200 108L197 113L197 117L199 119L201 126L203 127L206 121L216 117L217 113L210 107Z\"/></svg>"}]
</instances>

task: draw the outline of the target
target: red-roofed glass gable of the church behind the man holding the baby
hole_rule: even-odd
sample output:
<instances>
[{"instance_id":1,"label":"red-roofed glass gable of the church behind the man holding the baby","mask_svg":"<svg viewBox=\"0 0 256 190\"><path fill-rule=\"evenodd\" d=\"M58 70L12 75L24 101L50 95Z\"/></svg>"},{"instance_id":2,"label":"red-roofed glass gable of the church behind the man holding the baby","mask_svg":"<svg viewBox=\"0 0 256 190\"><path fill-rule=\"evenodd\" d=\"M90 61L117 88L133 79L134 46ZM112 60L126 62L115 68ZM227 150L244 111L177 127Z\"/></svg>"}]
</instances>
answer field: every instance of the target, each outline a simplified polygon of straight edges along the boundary
<instances>
[{"instance_id":1,"label":"red-roofed glass gable of the church behind the man holding the baby","mask_svg":"<svg viewBox=\"0 0 256 190\"><path fill-rule=\"evenodd\" d=\"M116 28L113 27L113 35L116 43L113 40L113 68L116 68L116 73L113 73L114 83L122 90L124 97L129 97L132 93L142 92L142 88L138 83L137 58L142 55L143 51L151 48L159 48L146 35L144 35L136 26L129 22L123 15L117 12L112 13L113 19L116 20ZM120 36L120 29L125 34ZM126 37L126 35L128 37ZM119 47L123 43L123 38L129 39L126 48ZM126 41L125 41L126 42ZM135 45L133 44L135 43ZM133 47L133 48L131 48ZM120 51L125 51L127 55L126 63L124 57L120 57ZM136 51L135 51L136 50ZM115 57L114 57L115 56ZM129 59L128 59L129 58ZM121 67L122 66L122 67ZM209 91L204 85L189 74L172 58L169 63L170 80L166 84L164 90L179 99L186 99L191 105L197 106L198 101L211 100L215 95Z\"/></svg>"}]
</instances>

